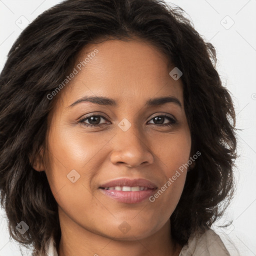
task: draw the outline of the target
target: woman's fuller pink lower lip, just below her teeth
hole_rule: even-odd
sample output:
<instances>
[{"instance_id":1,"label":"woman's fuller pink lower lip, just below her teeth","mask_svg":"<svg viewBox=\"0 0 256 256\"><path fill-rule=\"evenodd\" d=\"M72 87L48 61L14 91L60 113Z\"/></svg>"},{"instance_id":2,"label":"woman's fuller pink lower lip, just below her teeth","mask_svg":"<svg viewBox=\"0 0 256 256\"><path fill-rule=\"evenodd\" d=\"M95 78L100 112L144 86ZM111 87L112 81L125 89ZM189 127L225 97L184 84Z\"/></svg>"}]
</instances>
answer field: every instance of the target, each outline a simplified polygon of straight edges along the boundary
<instances>
[{"instance_id":1,"label":"woman's fuller pink lower lip, just below her teeth","mask_svg":"<svg viewBox=\"0 0 256 256\"><path fill-rule=\"evenodd\" d=\"M150 195L154 194L155 189L147 189L141 191L119 191L119 190L110 190L110 189L103 189L99 188L105 195L115 199L119 202L125 203L138 203Z\"/></svg>"}]
</instances>

